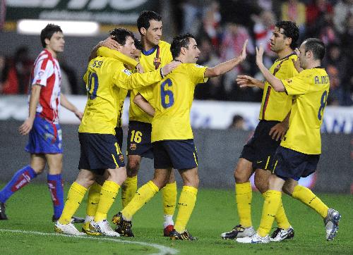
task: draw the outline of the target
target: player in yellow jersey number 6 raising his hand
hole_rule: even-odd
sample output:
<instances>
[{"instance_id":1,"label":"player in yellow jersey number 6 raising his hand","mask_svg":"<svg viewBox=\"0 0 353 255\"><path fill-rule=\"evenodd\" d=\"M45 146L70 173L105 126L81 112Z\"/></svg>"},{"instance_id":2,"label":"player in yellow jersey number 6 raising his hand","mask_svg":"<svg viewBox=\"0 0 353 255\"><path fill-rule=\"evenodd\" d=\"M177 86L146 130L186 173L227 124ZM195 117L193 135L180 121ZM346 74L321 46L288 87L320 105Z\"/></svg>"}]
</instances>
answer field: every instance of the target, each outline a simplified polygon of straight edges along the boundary
<instances>
[{"instance_id":1,"label":"player in yellow jersey number 6 raising his hand","mask_svg":"<svg viewBox=\"0 0 353 255\"><path fill-rule=\"evenodd\" d=\"M195 240L186 230L198 192L198 156L190 125L193 92L198 83L207 81L208 77L227 73L244 61L246 43L241 56L207 68L196 64L200 51L192 35L181 35L173 39L172 56L174 61L182 64L153 88L155 114L152 118L152 146L155 175L113 217L112 221L119 226L122 235L133 236L131 218L167 184L174 168L179 170L184 186L179 197L177 220L169 236L173 240Z\"/></svg>"}]
</instances>

